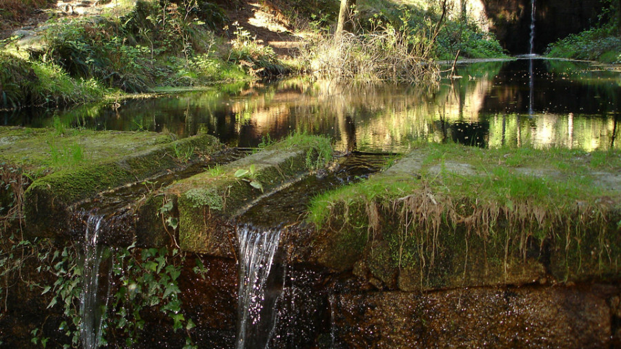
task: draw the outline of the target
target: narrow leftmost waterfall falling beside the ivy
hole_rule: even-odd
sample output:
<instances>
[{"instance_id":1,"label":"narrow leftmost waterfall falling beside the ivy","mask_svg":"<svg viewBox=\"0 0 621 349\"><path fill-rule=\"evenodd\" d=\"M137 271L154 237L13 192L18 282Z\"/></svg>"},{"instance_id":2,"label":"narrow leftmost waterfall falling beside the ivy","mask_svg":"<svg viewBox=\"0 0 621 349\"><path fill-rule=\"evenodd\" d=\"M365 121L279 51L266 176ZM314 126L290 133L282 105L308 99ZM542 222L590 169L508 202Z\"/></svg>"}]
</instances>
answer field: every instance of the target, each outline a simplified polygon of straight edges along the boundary
<instances>
[{"instance_id":1,"label":"narrow leftmost waterfall falling beside the ivy","mask_svg":"<svg viewBox=\"0 0 621 349\"><path fill-rule=\"evenodd\" d=\"M99 270L109 255L110 248L97 243L101 228L102 216L90 215L86 223L86 237L84 240L82 292L80 295L80 341L85 349L98 348L103 327L103 315L108 306L108 292L101 292L101 288L108 290L110 270L100 276Z\"/></svg>"}]
</instances>

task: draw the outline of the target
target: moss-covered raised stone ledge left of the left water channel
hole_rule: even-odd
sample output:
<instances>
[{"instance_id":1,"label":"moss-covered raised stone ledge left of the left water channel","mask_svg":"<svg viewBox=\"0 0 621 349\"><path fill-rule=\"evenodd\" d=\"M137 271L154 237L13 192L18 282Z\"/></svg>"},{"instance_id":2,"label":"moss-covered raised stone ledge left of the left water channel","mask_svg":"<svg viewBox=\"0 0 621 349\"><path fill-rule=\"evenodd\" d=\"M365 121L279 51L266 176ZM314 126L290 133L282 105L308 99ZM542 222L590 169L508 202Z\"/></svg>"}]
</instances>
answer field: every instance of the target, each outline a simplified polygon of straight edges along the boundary
<instances>
[{"instance_id":1,"label":"moss-covered raised stone ledge left of the left water channel","mask_svg":"<svg viewBox=\"0 0 621 349\"><path fill-rule=\"evenodd\" d=\"M167 170L180 169L221 148L215 137L201 134L135 153L121 153L117 159L96 160L53 172L34 181L24 193L25 231L28 237L67 235L68 214L79 201Z\"/></svg>"}]
</instances>

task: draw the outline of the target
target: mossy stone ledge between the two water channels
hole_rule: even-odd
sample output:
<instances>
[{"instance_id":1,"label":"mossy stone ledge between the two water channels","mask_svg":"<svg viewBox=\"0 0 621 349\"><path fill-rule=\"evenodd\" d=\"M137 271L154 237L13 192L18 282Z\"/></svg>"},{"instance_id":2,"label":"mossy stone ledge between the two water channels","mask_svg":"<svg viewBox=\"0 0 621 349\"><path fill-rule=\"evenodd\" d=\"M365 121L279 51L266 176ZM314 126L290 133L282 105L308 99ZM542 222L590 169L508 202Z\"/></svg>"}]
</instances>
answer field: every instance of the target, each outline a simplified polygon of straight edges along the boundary
<instances>
[{"instance_id":1,"label":"mossy stone ledge between the two water channels","mask_svg":"<svg viewBox=\"0 0 621 349\"><path fill-rule=\"evenodd\" d=\"M295 136L294 136L295 137ZM179 246L188 252L206 253L214 257L234 257L237 246L235 217L262 195L278 190L304 172L313 170L329 149L327 139L305 137L286 139L243 159L217 169L183 179L148 197L139 208L139 244L166 241L167 233L157 214L164 201L173 203L169 217L178 212ZM330 154L331 157L331 150ZM324 159L325 160L325 159ZM236 177L239 170L248 173ZM260 183L260 188L250 185ZM177 218L177 217L175 217Z\"/></svg>"}]
</instances>

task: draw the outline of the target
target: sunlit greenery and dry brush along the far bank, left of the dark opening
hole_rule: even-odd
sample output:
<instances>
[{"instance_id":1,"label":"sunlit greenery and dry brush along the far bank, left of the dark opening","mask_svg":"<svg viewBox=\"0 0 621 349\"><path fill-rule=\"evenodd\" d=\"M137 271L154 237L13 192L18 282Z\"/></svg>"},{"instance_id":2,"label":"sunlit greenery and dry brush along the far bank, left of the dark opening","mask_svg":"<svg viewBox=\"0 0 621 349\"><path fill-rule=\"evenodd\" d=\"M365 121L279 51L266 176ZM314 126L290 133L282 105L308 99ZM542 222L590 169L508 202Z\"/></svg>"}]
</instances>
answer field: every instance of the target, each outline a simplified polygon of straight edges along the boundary
<instances>
[{"instance_id":1,"label":"sunlit greenery and dry brush along the far bank, left of the dark opening","mask_svg":"<svg viewBox=\"0 0 621 349\"><path fill-rule=\"evenodd\" d=\"M427 0L359 1L352 9L355 29L335 38L335 3L270 5L305 33L300 54L290 59L230 23L224 6L234 4L122 0L101 15L52 18L40 44L20 50L17 37L0 41L0 108L85 103L161 86L291 72L346 81L435 81L431 61L438 57L453 58L457 51L462 57L502 55L475 21Z\"/></svg>"}]
</instances>

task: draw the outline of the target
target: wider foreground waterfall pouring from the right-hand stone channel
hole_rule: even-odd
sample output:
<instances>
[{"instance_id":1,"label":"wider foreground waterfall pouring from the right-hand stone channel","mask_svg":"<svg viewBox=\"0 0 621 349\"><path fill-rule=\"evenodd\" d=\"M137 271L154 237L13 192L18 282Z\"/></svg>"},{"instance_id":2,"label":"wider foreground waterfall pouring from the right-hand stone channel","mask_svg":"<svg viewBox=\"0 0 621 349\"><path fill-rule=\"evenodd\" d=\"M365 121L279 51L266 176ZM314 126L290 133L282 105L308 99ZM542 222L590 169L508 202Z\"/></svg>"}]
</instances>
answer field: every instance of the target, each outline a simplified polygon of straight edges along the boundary
<instances>
[{"instance_id":1,"label":"wider foreground waterfall pouring from the right-hand stone channel","mask_svg":"<svg viewBox=\"0 0 621 349\"><path fill-rule=\"evenodd\" d=\"M277 295L268 289L280 231L251 226L237 229L239 301L236 348L266 348L274 330Z\"/></svg>"}]
</instances>

